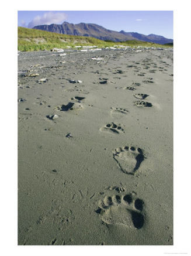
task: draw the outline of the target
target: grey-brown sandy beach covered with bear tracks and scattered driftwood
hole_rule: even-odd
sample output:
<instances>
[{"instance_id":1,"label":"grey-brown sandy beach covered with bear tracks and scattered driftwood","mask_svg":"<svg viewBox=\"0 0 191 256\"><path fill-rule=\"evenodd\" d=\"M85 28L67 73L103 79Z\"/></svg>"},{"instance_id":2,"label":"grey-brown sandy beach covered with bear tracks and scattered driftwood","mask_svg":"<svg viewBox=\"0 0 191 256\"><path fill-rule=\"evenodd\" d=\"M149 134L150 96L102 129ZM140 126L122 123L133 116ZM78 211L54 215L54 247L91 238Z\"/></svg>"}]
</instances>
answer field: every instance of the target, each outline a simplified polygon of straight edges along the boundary
<instances>
[{"instance_id":1,"label":"grey-brown sandy beach covered with bear tracks and scattered driftwood","mask_svg":"<svg viewBox=\"0 0 191 256\"><path fill-rule=\"evenodd\" d=\"M18 53L18 244L173 244L173 50Z\"/></svg>"}]
</instances>

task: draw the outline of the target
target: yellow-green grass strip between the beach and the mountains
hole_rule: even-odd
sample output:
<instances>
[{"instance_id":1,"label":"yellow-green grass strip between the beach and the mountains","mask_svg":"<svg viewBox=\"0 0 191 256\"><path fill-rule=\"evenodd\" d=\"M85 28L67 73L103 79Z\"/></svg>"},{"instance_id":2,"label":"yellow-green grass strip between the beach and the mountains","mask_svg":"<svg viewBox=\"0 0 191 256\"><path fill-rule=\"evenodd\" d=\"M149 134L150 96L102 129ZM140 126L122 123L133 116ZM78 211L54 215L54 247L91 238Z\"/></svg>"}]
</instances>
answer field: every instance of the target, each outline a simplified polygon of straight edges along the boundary
<instances>
[{"instance_id":1,"label":"yellow-green grass strip between the beach and the mountains","mask_svg":"<svg viewBox=\"0 0 191 256\"><path fill-rule=\"evenodd\" d=\"M51 50L54 47L65 49L67 46L72 48L75 46L98 46L106 48L120 45L130 47L169 47L169 45L157 45L155 43L136 40L129 40L126 42L112 42L110 40L103 41L88 36L70 36L43 30L18 27L18 50L20 51Z\"/></svg>"}]
</instances>

